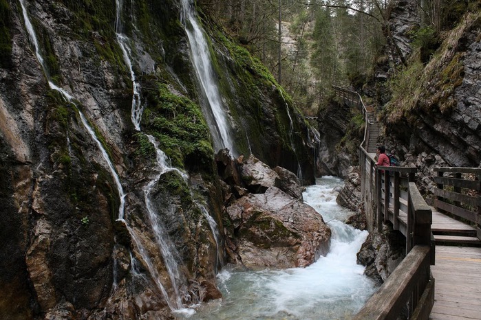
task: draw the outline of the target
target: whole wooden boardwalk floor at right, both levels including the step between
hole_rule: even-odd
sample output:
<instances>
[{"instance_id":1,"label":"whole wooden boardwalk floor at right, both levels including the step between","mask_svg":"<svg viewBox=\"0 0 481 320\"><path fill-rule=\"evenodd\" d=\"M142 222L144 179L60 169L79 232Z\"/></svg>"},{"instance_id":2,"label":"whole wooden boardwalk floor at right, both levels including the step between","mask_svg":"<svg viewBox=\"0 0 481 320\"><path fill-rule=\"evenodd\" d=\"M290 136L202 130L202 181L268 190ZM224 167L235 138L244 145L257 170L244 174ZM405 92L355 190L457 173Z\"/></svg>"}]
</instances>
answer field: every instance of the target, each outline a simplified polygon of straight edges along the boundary
<instances>
[{"instance_id":1,"label":"whole wooden boardwalk floor at right, both levels including the step between","mask_svg":"<svg viewBox=\"0 0 481 320\"><path fill-rule=\"evenodd\" d=\"M436 242L458 240L467 243L475 229L433 211L431 230ZM475 238L477 240L477 238ZM432 320L481 320L481 248L436 244Z\"/></svg>"}]
</instances>

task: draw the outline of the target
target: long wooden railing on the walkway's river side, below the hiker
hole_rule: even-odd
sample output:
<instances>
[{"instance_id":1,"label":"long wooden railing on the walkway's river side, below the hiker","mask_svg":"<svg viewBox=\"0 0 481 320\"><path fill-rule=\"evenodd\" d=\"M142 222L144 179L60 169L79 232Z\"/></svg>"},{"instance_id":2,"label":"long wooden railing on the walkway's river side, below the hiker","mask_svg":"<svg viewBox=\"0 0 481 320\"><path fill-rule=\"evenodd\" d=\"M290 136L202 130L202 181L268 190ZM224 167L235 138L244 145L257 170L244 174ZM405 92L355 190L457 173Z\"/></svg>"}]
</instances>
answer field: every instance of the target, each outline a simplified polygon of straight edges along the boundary
<instances>
[{"instance_id":1,"label":"long wooden railing on the walkway's river side, below the hiker","mask_svg":"<svg viewBox=\"0 0 481 320\"><path fill-rule=\"evenodd\" d=\"M345 103L362 106L366 120L364 141L359 147L359 167L361 201L368 228L381 231L383 223L390 221L406 237L405 258L354 319L397 319L403 313L409 319L428 319L434 305L434 278L430 269L434 264L434 238L431 209L414 183L417 169L376 167L365 150L370 123L361 97L353 91L334 89Z\"/></svg>"}]
</instances>

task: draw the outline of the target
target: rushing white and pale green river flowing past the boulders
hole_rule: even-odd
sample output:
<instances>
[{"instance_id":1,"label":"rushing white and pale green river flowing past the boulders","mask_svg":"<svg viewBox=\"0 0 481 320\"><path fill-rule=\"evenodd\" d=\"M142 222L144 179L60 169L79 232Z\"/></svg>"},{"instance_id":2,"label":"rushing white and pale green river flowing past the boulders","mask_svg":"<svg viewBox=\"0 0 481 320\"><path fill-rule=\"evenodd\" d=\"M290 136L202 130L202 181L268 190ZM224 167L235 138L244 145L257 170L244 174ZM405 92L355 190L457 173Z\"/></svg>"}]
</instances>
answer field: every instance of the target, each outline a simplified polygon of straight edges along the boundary
<instances>
[{"instance_id":1,"label":"rushing white and pale green river flowing past the boulders","mask_svg":"<svg viewBox=\"0 0 481 320\"><path fill-rule=\"evenodd\" d=\"M226 266L217 275L222 301L201 306L189 319L351 319L376 287L356 264L367 231L343 222L353 213L336 204L342 185L341 179L323 177L303 194L332 229L328 255L306 268L280 271Z\"/></svg>"}]
</instances>

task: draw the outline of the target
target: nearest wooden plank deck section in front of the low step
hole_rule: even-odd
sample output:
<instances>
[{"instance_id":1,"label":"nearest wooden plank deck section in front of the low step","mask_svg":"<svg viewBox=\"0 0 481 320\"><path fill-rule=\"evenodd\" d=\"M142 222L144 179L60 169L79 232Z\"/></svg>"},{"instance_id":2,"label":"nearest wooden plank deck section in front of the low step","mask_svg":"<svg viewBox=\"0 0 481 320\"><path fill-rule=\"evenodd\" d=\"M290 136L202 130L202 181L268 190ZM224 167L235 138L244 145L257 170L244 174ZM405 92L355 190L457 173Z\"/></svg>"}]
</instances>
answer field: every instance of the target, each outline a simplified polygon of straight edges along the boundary
<instances>
[{"instance_id":1,"label":"nearest wooden plank deck section in front of the low step","mask_svg":"<svg viewBox=\"0 0 481 320\"><path fill-rule=\"evenodd\" d=\"M481 320L481 248L436 246L432 320Z\"/></svg>"}]
</instances>

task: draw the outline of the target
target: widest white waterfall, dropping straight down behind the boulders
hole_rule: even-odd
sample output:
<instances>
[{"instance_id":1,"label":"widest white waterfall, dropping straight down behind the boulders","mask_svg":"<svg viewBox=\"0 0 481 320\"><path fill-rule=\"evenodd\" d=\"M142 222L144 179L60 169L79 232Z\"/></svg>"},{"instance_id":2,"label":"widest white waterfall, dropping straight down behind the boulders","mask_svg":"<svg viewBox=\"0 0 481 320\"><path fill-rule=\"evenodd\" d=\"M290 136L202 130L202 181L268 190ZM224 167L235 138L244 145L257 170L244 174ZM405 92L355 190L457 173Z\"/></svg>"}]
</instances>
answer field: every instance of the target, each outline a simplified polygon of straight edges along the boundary
<instances>
[{"instance_id":1,"label":"widest white waterfall, dropping straight down behind the boulders","mask_svg":"<svg viewBox=\"0 0 481 320\"><path fill-rule=\"evenodd\" d=\"M211 63L209 46L202 27L197 23L191 0L182 0L181 21L184 24L189 44L191 47L191 59L197 73L197 80L202 87L207 105L204 106L204 115L211 129L215 150L228 148L231 155L237 156L231 138L231 128L224 111L224 103L217 87L217 77Z\"/></svg>"}]
</instances>

